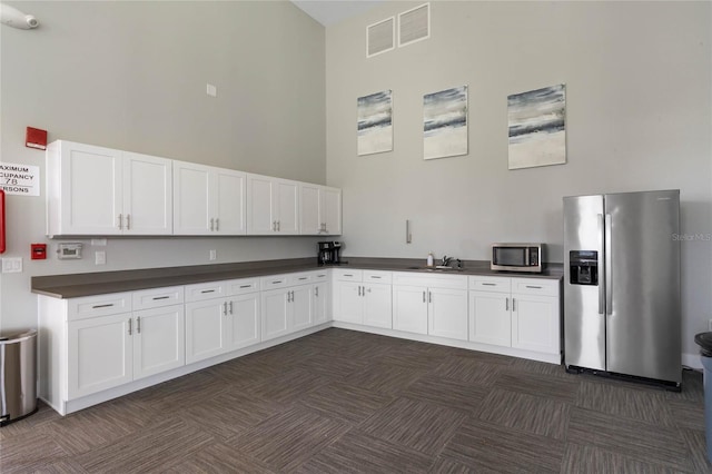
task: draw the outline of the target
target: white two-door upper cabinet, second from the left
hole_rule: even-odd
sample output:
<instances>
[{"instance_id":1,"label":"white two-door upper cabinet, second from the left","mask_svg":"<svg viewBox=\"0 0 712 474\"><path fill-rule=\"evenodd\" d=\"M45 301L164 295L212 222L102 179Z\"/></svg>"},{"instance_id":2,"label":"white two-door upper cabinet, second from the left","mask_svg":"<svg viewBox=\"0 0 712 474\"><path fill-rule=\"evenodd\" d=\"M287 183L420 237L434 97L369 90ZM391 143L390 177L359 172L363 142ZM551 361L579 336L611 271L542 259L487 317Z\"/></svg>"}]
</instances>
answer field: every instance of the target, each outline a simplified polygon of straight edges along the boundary
<instances>
[{"instance_id":1,"label":"white two-door upper cabinet, second from the left","mask_svg":"<svg viewBox=\"0 0 712 474\"><path fill-rule=\"evenodd\" d=\"M246 234L244 172L174 161L174 234Z\"/></svg>"}]
</instances>

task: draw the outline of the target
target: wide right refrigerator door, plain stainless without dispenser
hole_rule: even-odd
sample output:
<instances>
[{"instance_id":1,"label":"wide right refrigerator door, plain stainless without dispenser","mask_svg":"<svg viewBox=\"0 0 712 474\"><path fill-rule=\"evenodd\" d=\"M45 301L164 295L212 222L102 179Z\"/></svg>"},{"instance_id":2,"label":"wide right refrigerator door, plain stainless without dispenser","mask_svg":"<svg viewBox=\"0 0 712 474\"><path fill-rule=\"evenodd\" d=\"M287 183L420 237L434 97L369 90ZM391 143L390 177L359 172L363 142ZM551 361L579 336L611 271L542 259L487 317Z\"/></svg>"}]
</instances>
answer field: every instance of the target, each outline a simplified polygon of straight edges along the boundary
<instances>
[{"instance_id":1,"label":"wide right refrigerator door, plain stainless without dispenser","mask_svg":"<svg viewBox=\"0 0 712 474\"><path fill-rule=\"evenodd\" d=\"M607 371L680 383L680 191L604 199Z\"/></svg>"}]
</instances>

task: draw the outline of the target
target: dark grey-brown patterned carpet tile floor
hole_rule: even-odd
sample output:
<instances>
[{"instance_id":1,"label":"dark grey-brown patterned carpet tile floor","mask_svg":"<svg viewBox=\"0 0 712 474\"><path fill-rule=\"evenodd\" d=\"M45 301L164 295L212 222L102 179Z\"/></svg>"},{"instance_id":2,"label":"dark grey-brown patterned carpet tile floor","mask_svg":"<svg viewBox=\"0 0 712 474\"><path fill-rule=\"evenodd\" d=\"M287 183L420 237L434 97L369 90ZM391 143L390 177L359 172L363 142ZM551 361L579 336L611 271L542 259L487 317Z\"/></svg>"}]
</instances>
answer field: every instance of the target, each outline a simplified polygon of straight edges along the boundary
<instances>
[{"instance_id":1,"label":"dark grey-brown patterned carpet tile floor","mask_svg":"<svg viewBox=\"0 0 712 474\"><path fill-rule=\"evenodd\" d=\"M681 393L344 329L0 428L0 472L704 473Z\"/></svg>"}]
</instances>

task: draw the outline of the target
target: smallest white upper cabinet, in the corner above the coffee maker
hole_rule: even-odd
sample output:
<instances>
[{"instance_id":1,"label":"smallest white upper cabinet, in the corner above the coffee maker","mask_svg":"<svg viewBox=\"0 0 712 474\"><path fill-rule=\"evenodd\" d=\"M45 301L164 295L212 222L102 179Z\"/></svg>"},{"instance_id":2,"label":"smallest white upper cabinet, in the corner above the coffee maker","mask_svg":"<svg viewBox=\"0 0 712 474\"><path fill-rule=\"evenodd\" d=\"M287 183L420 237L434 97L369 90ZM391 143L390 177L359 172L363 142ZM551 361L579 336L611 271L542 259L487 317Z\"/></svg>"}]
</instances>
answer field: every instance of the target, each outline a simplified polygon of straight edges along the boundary
<instances>
[{"instance_id":1,"label":"smallest white upper cabinet, in the corner above the coffee maker","mask_svg":"<svg viewBox=\"0 0 712 474\"><path fill-rule=\"evenodd\" d=\"M304 235L342 234L342 190L326 186L300 186L299 218Z\"/></svg>"}]
</instances>

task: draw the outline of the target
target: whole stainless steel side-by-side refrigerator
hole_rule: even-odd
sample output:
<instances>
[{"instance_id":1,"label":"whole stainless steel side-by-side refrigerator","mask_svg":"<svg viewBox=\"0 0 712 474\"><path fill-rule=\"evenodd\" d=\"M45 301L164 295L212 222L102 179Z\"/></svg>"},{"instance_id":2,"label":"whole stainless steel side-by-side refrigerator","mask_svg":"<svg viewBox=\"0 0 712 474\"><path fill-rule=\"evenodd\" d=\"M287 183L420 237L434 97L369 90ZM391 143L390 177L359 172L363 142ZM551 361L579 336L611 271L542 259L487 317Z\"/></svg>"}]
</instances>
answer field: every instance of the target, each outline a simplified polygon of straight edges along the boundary
<instances>
[{"instance_id":1,"label":"whole stainless steel side-by-side refrigerator","mask_svg":"<svg viewBox=\"0 0 712 474\"><path fill-rule=\"evenodd\" d=\"M680 190L564 198L564 362L682 382Z\"/></svg>"}]
</instances>

